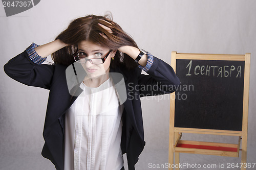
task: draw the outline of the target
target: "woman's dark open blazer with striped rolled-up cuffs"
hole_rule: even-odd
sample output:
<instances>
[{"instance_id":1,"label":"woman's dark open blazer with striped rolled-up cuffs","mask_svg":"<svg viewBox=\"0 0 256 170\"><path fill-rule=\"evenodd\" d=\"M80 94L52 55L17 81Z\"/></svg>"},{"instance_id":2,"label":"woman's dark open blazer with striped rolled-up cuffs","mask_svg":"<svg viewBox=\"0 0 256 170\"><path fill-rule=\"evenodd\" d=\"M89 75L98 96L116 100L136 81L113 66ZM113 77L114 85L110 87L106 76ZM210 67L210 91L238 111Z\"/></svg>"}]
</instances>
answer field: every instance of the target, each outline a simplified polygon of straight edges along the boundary
<instances>
[{"instance_id":1,"label":"woman's dark open blazer with striped rolled-up cuffs","mask_svg":"<svg viewBox=\"0 0 256 170\"><path fill-rule=\"evenodd\" d=\"M50 159L56 169L63 169L65 113L77 98L69 93L66 68L67 66L60 64L37 65L30 60L26 51L12 58L4 66L6 74L12 79L50 90L42 156ZM148 75L141 74L139 67L127 70L120 66L110 71L118 72L124 78L127 100L123 103L121 149L123 154L126 153L129 169L135 169L145 145L140 97L171 93L175 91L174 86L180 84L180 80L170 65L156 57L147 71ZM154 87L154 90L147 88L148 85Z\"/></svg>"}]
</instances>

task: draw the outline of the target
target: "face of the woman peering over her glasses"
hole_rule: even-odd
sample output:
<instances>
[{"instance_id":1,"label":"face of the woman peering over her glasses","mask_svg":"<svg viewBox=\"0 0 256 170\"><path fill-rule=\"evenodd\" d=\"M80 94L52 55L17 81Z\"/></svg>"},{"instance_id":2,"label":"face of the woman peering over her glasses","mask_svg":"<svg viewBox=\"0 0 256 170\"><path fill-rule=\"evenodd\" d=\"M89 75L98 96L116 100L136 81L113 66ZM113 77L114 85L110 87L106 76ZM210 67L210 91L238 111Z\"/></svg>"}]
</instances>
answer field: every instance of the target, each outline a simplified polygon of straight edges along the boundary
<instances>
[{"instance_id":1,"label":"face of the woman peering over her glasses","mask_svg":"<svg viewBox=\"0 0 256 170\"><path fill-rule=\"evenodd\" d=\"M81 41L77 45L80 58L92 59L84 60L83 62L85 63L81 63L89 78L97 78L109 72L110 61L115 56L115 52L110 52L109 48L90 41ZM108 57L104 63L100 63L102 61L101 58L104 58L106 55Z\"/></svg>"}]
</instances>

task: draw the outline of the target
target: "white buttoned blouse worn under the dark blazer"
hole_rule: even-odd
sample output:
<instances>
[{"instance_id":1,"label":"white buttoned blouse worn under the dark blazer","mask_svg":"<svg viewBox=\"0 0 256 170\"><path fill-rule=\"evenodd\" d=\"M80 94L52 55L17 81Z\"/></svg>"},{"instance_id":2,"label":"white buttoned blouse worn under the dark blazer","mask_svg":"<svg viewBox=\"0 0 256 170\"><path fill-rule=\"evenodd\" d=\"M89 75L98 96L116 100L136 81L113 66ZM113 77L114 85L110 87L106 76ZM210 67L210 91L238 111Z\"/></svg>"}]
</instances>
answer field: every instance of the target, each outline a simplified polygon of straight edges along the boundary
<instances>
[{"instance_id":1,"label":"white buttoned blouse worn under the dark blazer","mask_svg":"<svg viewBox=\"0 0 256 170\"><path fill-rule=\"evenodd\" d=\"M120 170L123 105L113 83L80 87L83 92L66 113L64 169Z\"/></svg>"}]
</instances>

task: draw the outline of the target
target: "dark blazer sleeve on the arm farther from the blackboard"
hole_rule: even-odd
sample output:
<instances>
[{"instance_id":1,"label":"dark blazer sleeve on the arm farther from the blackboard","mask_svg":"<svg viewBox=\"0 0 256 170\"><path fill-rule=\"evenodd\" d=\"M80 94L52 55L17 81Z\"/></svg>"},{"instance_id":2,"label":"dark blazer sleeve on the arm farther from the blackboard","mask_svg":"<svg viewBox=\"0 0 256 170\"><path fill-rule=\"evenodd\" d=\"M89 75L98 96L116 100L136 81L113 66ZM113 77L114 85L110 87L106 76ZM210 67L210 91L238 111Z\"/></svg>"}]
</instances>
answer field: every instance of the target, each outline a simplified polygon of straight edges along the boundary
<instances>
[{"instance_id":1,"label":"dark blazer sleeve on the arm farther from the blackboard","mask_svg":"<svg viewBox=\"0 0 256 170\"><path fill-rule=\"evenodd\" d=\"M4 65L6 74L28 86L50 89L55 65L34 63L27 51L12 58Z\"/></svg>"}]
</instances>

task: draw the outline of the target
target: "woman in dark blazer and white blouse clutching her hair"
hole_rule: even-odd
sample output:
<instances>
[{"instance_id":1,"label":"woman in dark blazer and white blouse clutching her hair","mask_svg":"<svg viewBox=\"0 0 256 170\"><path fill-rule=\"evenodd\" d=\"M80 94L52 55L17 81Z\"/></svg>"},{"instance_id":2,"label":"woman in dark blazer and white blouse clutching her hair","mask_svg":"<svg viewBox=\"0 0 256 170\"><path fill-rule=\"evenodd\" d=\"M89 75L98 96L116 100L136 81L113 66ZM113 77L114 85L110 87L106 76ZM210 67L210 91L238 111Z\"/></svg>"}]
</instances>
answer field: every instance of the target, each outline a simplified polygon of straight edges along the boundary
<instances>
[{"instance_id":1,"label":"woman in dark blazer and white blouse clutching her hair","mask_svg":"<svg viewBox=\"0 0 256 170\"><path fill-rule=\"evenodd\" d=\"M50 54L54 64L41 64ZM135 169L145 144L140 97L180 84L171 66L140 51L109 16L75 19L56 40L32 43L4 69L50 90L42 156L56 169L124 169L124 153Z\"/></svg>"}]
</instances>

